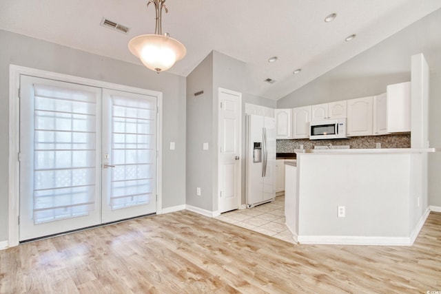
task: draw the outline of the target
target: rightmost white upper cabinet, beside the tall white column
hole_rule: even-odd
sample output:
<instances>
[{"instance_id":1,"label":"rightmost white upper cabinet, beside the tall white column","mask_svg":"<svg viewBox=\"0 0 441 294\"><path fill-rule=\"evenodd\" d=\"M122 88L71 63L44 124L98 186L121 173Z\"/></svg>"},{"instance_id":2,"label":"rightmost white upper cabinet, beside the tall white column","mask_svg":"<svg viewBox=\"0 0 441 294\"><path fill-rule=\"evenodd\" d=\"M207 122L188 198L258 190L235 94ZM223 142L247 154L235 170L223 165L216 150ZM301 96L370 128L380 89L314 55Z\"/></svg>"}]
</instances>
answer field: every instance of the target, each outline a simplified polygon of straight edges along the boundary
<instances>
[{"instance_id":1,"label":"rightmost white upper cabinet, beside the tall white column","mask_svg":"<svg viewBox=\"0 0 441 294\"><path fill-rule=\"evenodd\" d=\"M387 132L411 132L411 82L387 86Z\"/></svg>"}]
</instances>

